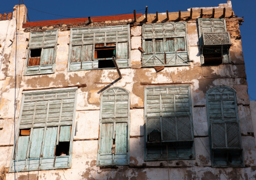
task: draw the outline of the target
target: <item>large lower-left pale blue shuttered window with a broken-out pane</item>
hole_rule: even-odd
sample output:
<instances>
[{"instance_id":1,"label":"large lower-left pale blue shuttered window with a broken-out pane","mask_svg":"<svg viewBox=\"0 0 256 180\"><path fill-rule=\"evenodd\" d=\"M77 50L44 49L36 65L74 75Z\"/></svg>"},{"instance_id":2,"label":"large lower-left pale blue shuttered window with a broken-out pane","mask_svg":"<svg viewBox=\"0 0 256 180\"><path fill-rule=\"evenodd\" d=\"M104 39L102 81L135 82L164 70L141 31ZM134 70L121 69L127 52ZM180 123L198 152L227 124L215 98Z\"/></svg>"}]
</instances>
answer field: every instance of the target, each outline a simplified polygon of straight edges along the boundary
<instances>
[{"instance_id":1,"label":"large lower-left pale blue shuttered window with a broken-out pane","mask_svg":"<svg viewBox=\"0 0 256 180\"><path fill-rule=\"evenodd\" d=\"M76 91L23 92L10 172L71 167Z\"/></svg>"}]
</instances>

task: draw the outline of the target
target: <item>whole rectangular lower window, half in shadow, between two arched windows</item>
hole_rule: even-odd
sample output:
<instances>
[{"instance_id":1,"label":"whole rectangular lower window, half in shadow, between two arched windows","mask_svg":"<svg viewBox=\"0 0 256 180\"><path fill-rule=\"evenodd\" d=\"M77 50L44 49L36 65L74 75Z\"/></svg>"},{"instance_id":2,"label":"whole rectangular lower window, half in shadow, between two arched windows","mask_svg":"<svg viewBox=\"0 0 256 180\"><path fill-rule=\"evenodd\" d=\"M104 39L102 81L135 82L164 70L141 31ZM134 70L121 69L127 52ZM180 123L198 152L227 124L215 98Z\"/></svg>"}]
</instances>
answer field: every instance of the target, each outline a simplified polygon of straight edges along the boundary
<instances>
[{"instance_id":1,"label":"whole rectangular lower window, half in shadow, between two arched windows","mask_svg":"<svg viewBox=\"0 0 256 180\"><path fill-rule=\"evenodd\" d=\"M145 88L145 160L193 159L189 86Z\"/></svg>"}]
</instances>

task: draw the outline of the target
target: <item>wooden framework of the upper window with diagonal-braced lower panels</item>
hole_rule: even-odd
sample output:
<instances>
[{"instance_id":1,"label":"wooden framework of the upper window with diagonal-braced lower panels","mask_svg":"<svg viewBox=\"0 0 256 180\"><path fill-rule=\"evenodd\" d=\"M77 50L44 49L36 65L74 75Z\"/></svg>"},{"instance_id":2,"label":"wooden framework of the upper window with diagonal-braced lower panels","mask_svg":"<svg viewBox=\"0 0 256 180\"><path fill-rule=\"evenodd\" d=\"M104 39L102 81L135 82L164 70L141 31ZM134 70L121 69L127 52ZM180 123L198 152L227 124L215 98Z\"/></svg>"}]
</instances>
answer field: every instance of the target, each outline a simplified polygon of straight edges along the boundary
<instances>
[{"instance_id":1,"label":"wooden framework of the upper window with diagonal-braced lower panels","mask_svg":"<svg viewBox=\"0 0 256 180\"><path fill-rule=\"evenodd\" d=\"M178 27L179 24L183 24L183 28ZM152 26L152 31L148 30L148 27ZM163 30L156 30L155 26L162 26ZM167 27L168 26L168 27ZM171 27L169 27L171 26ZM177 26L177 27L176 27ZM158 27L159 28L159 27ZM170 32L167 32L170 31ZM181 33L183 31L183 33ZM160 33L161 32L161 33ZM166 33L167 32L167 33ZM169 34L168 34L169 33ZM157 35L161 34L161 35ZM174 51L167 51L167 39L174 39ZM183 38L184 51L179 51L177 38ZM152 39L152 53L147 53L146 41ZM163 47L161 52L156 52L156 39L163 39ZM178 23L163 23L163 24L144 24L142 26L142 46L145 51L142 54L142 67L155 67L155 66L190 66L189 52L188 52L188 38L186 22ZM153 61L152 63L149 63Z\"/></svg>"}]
</instances>

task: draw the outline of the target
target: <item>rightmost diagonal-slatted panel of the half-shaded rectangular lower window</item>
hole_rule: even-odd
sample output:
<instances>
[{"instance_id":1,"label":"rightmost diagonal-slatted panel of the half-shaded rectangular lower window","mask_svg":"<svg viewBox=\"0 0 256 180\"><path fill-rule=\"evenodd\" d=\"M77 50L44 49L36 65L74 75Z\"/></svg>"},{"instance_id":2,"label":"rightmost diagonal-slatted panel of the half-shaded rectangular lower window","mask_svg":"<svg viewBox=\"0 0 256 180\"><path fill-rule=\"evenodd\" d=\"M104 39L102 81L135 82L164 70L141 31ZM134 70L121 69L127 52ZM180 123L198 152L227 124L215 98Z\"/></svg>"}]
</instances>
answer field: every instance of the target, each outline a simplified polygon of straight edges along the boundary
<instances>
[{"instance_id":1,"label":"rightmost diagonal-slatted panel of the half-shaded rectangular lower window","mask_svg":"<svg viewBox=\"0 0 256 180\"><path fill-rule=\"evenodd\" d=\"M179 141L193 140L189 117L177 117L177 134Z\"/></svg>"}]
</instances>

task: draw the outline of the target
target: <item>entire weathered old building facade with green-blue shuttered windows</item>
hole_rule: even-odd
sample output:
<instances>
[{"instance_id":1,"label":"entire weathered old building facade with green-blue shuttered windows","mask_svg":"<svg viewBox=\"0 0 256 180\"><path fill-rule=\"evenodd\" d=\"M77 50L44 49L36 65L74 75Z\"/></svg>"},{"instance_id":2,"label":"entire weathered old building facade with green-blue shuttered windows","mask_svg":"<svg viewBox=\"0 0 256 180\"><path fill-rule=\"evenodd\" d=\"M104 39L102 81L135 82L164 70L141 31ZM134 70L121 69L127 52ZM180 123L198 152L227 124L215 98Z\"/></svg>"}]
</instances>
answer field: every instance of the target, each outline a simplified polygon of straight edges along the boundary
<instances>
[{"instance_id":1,"label":"entire weathered old building facade with green-blue shuttered windows","mask_svg":"<svg viewBox=\"0 0 256 180\"><path fill-rule=\"evenodd\" d=\"M26 13L15 6L0 21L3 177L256 178L230 1L42 22Z\"/></svg>"}]
</instances>

